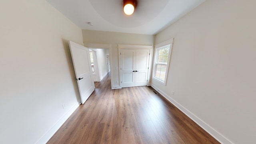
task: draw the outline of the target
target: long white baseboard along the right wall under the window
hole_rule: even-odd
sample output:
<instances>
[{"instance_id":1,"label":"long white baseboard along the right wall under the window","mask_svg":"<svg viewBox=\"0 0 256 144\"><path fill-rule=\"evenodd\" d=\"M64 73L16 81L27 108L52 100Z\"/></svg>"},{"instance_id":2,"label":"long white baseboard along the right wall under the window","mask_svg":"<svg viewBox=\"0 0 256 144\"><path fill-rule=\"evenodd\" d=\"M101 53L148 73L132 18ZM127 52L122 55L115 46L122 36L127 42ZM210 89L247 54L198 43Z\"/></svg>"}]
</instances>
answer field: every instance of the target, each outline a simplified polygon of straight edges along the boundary
<instances>
[{"instance_id":1,"label":"long white baseboard along the right wall under the window","mask_svg":"<svg viewBox=\"0 0 256 144\"><path fill-rule=\"evenodd\" d=\"M210 134L212 137L214 137L216 140L218 140L222 144L234 144L230 140L228 140L226 137L224 137L222 134L214 130L211 126L206 124L203 120L198 118L196 115L194 115L192 112L184 108L181 104L176 102L174 99L172 99L170 96L162 92L159 88L151 84L151 87L154 88L156 91L158 91L164 98L166 98L169 102L171 102L174 106L176 106L179 110L181 110L186 116L188 116L190 119L192 119L196 124L198 124L201 128L203 128L208 134Z\"/></svg>"}]
</instances>

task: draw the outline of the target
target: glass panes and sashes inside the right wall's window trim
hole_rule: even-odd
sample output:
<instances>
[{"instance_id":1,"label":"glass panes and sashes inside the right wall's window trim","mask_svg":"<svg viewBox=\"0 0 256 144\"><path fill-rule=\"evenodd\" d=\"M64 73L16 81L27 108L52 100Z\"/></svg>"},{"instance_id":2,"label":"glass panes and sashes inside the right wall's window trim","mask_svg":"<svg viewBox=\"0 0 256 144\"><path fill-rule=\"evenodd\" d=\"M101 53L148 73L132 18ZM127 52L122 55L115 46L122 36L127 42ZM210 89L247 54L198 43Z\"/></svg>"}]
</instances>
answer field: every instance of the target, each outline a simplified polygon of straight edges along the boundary
<instances>
[{"instance_id":1,"label":"glass panes and sashes inside the right wall's window trim","mask_svg":"<svg viewBox=\"0 0 256 144\"><path fill-rule=\"evenodd\" d=\"M158 78L161 81L165 80L169 51L170 45L157 50L155 78Z\"/></svg>"}]
</instances>

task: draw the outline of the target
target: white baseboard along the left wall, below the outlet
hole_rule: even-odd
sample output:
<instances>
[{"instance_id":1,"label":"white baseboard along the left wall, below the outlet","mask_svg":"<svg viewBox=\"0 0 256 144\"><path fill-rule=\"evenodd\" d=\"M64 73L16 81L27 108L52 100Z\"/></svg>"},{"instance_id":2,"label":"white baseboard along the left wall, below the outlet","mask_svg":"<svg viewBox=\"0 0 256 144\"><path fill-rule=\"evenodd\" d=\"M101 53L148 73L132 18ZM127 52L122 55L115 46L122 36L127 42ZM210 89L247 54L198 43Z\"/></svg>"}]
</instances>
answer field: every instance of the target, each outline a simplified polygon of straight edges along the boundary
<instances>
[{"instance_id":1,"label":"white baseboard along the left wall, below the outlet","mask_svg":"<svg viewBox=\"0 0 256 144\"><path fill-rule=\"evenodd\" d=\"M79 104L77 103L72 108L70 108L70 110L68 110L68 112L48 132L46 132L46 134L44 134L44 136L42 136L42 138L40 138L40 140L38 140L36 144L46 144L46 142L50 140L50 138L55 134L55 132L57 132L57 130L62 126L62 124L64 124L64 122L66 122L66 120L71 116L71 114L73 114L73 112L76 110L76 108L78 108L78 106Z\"/></svg>"}]
</instances>

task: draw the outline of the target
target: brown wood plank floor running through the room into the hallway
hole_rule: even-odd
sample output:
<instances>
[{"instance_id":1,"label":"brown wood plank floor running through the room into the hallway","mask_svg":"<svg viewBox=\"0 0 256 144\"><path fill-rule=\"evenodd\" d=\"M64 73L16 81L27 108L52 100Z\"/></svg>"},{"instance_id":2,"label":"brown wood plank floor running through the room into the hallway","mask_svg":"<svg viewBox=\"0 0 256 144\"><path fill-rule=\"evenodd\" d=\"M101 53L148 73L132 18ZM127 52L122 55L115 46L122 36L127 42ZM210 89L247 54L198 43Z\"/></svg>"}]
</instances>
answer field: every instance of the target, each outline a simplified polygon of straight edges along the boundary
<instances>
[{"instance_id":1,"label":"brown wood plank floor running through the room into the hallway","mask_svg":"<svg viewBox=\"0 0 256 144\"><path fill-rule=\"evenodd\" d=\"M149 86L95 87L47 144L220 144Z\"/></svg>"}]
</instances>

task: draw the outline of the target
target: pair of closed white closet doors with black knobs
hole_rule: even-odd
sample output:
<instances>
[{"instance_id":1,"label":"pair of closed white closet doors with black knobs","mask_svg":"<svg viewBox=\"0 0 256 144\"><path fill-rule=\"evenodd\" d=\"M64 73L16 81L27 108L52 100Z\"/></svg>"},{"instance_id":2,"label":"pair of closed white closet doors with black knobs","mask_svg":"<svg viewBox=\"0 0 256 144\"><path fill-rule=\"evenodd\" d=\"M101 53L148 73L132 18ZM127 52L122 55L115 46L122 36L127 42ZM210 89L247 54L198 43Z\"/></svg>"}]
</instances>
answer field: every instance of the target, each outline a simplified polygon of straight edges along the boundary
<instances>
[{"instance_id":1,"label":"pair of closed white closet doors with black knobs","mask_svg":"<svg viewBox=\"0 0 256 144\"><path fill-rule=\"evenodd\" d=\"M146 86L150 50L120 50L120 70L122 88Z\"/></svg>"}]
</instances>

